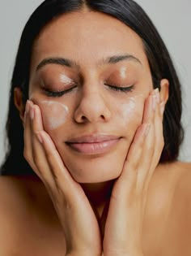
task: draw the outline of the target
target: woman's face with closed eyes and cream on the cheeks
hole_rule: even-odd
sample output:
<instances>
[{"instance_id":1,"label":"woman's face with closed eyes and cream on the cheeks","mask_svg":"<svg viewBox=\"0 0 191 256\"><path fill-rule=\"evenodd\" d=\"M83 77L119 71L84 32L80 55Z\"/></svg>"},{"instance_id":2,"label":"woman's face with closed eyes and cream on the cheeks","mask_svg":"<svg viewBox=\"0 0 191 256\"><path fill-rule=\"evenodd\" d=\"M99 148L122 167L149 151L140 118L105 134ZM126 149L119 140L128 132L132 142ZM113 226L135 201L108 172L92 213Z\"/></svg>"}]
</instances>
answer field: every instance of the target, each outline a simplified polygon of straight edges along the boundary
<instances>
[{"instance_id":1,"label":"woman's face with closed eyes and cream on the cheeks","mask_svg":"<svg viewBox=\"0 0 191 256\"><path fill-rule=\"evenodd\" d=\"M62 15L36 39L29 97L80 183L120 176L151 89L140 37L109 15Z\"/></svg>"}]
</instances>

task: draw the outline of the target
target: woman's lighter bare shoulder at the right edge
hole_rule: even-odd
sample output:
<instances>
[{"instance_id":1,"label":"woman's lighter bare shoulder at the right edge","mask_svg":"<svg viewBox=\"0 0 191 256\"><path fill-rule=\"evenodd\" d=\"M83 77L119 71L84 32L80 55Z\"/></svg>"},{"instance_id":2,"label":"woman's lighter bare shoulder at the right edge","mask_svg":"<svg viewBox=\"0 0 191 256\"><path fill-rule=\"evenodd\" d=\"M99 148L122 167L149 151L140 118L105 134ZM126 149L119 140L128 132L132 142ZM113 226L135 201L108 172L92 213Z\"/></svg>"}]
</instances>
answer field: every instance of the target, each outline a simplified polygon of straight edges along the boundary
<instances>
[{"instance_id":1,"label":"woman's lighter bare shoulder at the right edge","mask_svg":"<svg viewBox=\"0 0 191 256\"><path fill-rule=\"evenodd\" d=\"M146 207L143 242L148 255L191 255L190 216L191 163L159 164Z\"/></svg>"}]
</instances>

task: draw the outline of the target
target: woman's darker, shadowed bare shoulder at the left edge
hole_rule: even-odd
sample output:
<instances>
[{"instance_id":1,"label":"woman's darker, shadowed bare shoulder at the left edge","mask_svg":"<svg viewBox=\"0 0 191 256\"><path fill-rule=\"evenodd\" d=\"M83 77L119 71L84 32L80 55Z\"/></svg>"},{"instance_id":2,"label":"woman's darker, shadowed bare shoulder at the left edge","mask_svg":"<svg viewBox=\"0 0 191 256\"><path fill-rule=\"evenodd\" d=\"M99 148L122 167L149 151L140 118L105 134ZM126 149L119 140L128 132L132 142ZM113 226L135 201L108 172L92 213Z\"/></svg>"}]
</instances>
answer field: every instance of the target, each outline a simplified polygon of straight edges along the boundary
<instances>
[{"instance_id":1,"label":"woman's darker, shadowed bare shoulder at the left edge","mask_svg":"<svg viewBox=\"0 0 191 256\"><path fill-rule=\"evenodd\" d=\"M62 230L42 182L0 176L0 202L0 255L60 255Z\"/></svg>"}]
</instances>

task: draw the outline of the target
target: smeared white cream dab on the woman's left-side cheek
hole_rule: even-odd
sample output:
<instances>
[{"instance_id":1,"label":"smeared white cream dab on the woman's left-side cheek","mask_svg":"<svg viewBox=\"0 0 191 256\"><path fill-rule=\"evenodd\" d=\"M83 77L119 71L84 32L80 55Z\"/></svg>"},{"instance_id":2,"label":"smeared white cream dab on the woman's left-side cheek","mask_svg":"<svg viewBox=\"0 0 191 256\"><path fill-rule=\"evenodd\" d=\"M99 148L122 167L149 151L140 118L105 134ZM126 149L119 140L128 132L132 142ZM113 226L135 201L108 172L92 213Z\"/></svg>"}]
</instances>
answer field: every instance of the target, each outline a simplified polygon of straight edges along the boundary
<instances>
[{"instance_id":1,"label":"smeared white cream dab on the woman's left-side cheek","mask_svg":"<svg viewBox=\"0 0 191 256\"><path fill-rule=\"evenodd\" d=\"M54 130L66 122L68 107L60 102L43 101L40 102L41 111L45 125Z\"/></svg>"}]
</instances>

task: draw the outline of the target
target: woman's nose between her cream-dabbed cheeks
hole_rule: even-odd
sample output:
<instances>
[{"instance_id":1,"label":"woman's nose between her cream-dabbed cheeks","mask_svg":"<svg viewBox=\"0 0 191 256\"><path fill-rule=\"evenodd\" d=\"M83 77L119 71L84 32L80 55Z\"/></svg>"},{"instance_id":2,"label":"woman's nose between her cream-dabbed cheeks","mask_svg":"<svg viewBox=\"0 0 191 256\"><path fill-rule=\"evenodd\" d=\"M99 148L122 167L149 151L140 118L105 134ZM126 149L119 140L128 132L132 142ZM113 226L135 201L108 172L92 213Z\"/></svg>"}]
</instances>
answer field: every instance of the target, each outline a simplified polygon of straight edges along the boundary
<instances>
[{"instance_id":1,"label":"woman's nose between her cream-dabbed cheeks","mask_svg":"<svg viewBox=\"0 0 191 256\"><path fill-rule=\"evenodd\" d=\"M77 123L108 122L110 118L111 111L101 92L89 91L83 93L79 106L77 106L74 112L74 120Z\"/></svg>"}]
</instances>

